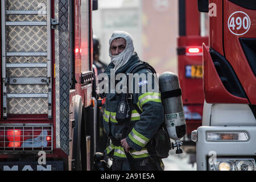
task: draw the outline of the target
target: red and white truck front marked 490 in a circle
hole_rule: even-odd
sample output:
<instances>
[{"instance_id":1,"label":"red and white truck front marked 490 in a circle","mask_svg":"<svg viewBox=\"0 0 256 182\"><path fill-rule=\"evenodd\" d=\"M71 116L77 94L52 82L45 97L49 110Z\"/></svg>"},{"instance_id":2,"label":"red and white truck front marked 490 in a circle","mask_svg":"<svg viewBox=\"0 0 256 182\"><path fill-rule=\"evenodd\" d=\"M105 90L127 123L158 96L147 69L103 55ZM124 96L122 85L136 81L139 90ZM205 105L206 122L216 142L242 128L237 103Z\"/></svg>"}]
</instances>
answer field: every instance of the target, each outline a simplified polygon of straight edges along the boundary
<instances>
[{"instance_id":1,"label":"red and white truck front marked 490 in a circle","mask_svg":"<svg viewBox=\"0 0 256 182\"><path fill-rule=\"evenodd\" d=\"M203 126L192 131L197 169L256 170L256 2L199 0L209 12L203 45Z\"/></svg>"}]
</instances>

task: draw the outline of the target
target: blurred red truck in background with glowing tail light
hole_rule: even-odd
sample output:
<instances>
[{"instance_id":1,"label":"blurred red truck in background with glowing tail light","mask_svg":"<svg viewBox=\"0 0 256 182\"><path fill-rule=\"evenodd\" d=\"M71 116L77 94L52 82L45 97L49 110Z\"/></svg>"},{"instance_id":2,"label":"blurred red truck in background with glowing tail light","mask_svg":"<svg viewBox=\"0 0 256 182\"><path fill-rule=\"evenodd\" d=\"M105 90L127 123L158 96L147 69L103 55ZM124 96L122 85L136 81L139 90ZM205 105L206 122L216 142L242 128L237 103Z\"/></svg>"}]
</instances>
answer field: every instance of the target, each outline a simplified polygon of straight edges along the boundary
<instances>
[{"instance_id":1,"label":"blurred red truck in background with glowing tail light","mask_svg":"<svg viewBox=\"0 0 256 182\"><path fill-rule=\"evenodd\" d=\"M196 0L179 1L178 75L187 123L183 147L192 154L195 154L196 148L191 140L191 131L201 126L203 115L202 44L208 44L207 22L205 13L200 14L197 10Z\"/></svg>"}]
</instances>

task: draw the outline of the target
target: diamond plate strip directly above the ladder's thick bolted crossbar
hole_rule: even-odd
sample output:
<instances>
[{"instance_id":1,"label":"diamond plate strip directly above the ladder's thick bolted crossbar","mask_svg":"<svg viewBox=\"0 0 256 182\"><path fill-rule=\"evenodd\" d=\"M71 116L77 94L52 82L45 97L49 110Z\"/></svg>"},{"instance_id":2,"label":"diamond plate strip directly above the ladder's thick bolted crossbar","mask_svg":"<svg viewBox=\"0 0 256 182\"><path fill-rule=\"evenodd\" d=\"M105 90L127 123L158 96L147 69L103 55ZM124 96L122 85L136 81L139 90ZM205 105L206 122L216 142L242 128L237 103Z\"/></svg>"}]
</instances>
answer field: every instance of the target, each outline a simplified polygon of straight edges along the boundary
<instances>
[{"instance_id":1,"label":"diamond plate strip directly above the ladder's thick bolted crossbar","mask_svg":"<svg viewBox=\"0 0 256 182\"><path fill-rule=\"evenodd\" d=\"M7 77L47 77L47 68L7 68Z\"/></svg>"}]
</instances>

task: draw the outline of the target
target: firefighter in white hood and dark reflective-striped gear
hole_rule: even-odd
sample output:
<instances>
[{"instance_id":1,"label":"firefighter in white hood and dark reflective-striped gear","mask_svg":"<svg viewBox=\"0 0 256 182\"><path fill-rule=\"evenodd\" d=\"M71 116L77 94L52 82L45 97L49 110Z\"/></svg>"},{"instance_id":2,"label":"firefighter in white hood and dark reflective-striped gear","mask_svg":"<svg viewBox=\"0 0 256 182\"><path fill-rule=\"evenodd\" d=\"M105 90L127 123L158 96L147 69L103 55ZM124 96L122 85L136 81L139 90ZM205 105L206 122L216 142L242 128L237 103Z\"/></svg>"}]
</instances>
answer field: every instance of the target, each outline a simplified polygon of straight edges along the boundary
<instances>
[{"instance_id":1,"label":"firefighter in white hood and dark reflective-striped gear","mask_svg":"<svg viewBox=\"0 0 256 182\"><path fill-rule=\"evenodd\" d=\"M129 73L131 67L139 64L139 57L134 52L133 38L124 31L114 31L109 40L109 55L111 62L105 70L105 73L110 78L110 71L114 69L114 74ZM148 69L141 69L137 72L139 75L151 73ZM153 75L151 74L153 77ZM146 80L139 80L134 84L139 86L148 84ZM153 80L154 84L154 78ZM121 94L106 93L106 102L104 109L104 127L108 137L110 138L109 146L105 152L107 155L113 154L112 170L130 170L131 164L127 160L126 153L129 152L133 158L133 166L135 170L158 170L158 167L148 155L147 143L155 133L159 126L163 123L163 105L159 92L142 92L139 87L139 93L132 94L131 118L128 135L126 138L121 138L125 123L119 123L115 119L117 114L117 105L121 100ZM138 108L141 112L138 111ZM126 151L126 153L125 153ZM159 159L160 160L160 159ZM160 160L163 166L162 160Z\"/></svg>"}]
</instances>

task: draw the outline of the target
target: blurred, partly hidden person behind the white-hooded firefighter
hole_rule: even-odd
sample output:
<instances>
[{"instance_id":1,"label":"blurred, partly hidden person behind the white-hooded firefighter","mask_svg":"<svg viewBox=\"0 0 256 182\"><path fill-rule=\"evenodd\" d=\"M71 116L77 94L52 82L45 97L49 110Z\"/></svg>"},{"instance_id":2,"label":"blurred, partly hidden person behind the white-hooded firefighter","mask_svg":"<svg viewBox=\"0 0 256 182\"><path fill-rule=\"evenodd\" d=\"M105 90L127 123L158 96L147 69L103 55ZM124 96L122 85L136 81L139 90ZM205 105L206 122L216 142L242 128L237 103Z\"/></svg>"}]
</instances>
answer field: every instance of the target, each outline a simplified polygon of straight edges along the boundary
<instances>
[{"instance_id":1,"label":"blurred, partly hidden person behind the white-hooded firefighter","mask_svg":"<svg viewBox=\"0 0 256 182\"><path fill-rule=\"evenodd\" d=\"M100 60L100 40L96 35L93 35L93 64L97 68L98 75L103 73L108 66Z\"/></svg>"}]
</instances>

